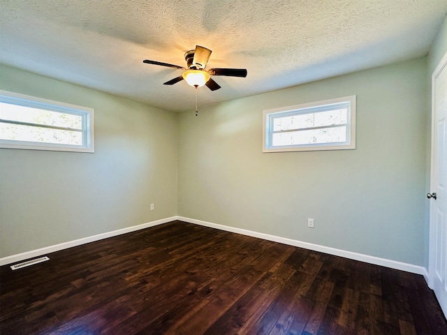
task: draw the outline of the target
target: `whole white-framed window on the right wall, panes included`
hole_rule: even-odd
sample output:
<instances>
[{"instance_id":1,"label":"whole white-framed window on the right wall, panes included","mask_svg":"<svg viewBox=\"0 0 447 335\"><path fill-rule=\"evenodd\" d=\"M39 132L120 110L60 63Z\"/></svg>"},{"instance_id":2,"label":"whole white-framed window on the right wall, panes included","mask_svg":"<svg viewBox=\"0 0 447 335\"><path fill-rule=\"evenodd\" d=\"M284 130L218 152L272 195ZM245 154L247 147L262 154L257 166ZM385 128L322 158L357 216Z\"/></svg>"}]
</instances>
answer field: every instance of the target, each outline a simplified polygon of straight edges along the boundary
<instances>
[{"instance_id":1,"label":"whole white-framed window on the right wall, panes included","mask_svg":"<svg viewBox=\"0 0 447 335\"><path fill-rule=\"evenodd\" d=\"M356 149L356 96L263 112L263 152Z\"/></svg>"}]
</instances>

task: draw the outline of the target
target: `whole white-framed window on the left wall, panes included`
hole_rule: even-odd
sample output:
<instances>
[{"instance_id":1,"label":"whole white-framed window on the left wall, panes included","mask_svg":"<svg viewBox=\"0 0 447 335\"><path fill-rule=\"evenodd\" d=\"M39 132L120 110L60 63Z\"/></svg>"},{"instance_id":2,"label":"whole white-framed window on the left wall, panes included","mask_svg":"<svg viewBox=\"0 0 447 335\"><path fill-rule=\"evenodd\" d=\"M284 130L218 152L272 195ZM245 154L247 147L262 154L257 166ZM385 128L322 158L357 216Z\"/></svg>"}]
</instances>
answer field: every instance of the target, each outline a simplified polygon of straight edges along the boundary
<instances>
[{"instance_id":1,"label":"whole white-framed window on the left wall, panes included","mask_svg":"<svg viewBox=\"0 0 447 335\"><path fill-rule=\"evenodd\" d=\"M0 148L94 152L94 110L0 90Z\"/></svg>"}]
</instances>

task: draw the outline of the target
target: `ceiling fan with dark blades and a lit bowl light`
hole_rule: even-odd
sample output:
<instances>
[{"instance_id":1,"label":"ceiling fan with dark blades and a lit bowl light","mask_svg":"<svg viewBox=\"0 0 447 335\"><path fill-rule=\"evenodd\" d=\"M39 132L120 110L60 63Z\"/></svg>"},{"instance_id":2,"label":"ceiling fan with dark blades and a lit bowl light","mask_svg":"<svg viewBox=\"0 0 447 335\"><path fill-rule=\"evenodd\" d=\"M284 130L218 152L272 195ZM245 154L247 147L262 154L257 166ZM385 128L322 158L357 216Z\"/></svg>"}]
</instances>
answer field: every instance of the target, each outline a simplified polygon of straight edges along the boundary
<instances>
[{"instance_id":1,"label":"ceiling fan with dark blades and a lit bowl light","mask_svg":"<svg viewBox=\"0 0 447 335\"><path fill-rule=\"evenodd\" d=\"M215 91L221 87L217 84L217 82L214 82L214 80L210 78L210 75L247 77L247 70L244 68L212 68L210 70L205 70L208 59L210 59L211 52L212 51L210 49L201 47L200 45L196 45L196 50L186 51L184 54L184 59L186 60L187 68L174 64L162 63L161 61L150 61L149 59L145 59L143 63L185 70L182 75L179 75L179 77L175 77L174 79L163 83L165 85L173 85L182 80L186 80L186 82L192 87L197 88L206 85L211 91Z\"/></svg>"}]
</instances>

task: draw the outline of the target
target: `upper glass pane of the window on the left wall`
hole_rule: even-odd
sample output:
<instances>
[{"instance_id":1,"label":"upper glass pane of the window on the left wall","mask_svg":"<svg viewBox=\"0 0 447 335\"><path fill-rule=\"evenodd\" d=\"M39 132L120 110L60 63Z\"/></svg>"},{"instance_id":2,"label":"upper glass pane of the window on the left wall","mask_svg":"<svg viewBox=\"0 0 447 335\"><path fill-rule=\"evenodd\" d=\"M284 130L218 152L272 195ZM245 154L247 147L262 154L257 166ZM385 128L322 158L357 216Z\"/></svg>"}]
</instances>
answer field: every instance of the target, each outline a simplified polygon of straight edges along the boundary
<instances>
[{"instance_id":1,"label":"upper glass pane of the window on the left wall","mask_svg":"<svg viewBox=\"0 0 447 335\"><path fill-rule=\"evenodd\" d=\"M44 124L71 129L82 129L82 116L41 110L33 107L0 103L0 119Z\"/></svg>"}]
</instances>

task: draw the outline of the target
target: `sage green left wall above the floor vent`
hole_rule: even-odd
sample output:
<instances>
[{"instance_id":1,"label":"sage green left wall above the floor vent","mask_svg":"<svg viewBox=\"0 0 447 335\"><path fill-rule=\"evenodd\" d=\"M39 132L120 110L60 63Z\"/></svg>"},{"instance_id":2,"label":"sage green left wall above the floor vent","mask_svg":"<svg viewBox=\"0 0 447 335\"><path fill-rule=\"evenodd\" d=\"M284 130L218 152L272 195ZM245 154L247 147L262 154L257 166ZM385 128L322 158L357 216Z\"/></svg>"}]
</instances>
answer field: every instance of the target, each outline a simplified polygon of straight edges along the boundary
<instances>
[{"instance_id":1,"label":"sage green left wall above the floor vent","mask_svg":"<svg viewBox=\"0 0 447 335\"><path fill-rule=\"evenodd\" d=\"M0 89L95 110L94 154L0 149L0 257L177 214L177 114L6 66Z\"/></svg>"}]
</instances>

